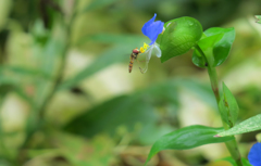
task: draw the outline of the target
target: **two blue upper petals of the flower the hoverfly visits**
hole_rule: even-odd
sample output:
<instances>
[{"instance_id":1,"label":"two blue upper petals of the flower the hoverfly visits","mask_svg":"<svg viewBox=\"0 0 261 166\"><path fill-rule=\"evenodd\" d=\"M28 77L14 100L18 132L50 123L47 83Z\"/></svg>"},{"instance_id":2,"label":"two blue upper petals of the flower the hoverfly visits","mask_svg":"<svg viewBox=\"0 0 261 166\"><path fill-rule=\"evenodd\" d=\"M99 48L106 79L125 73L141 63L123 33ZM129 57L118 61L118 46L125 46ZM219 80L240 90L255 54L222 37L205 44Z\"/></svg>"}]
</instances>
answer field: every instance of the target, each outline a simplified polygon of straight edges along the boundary
<instances>
[{"instance_id":1,"label":"two blue upper petals of the flower the hoverfly visits","mask_svg":"<svg viewBox=\"0 0 261 166\"><path fill-rule=\"evenodd\" d=\"M153 44L158 38L158 35L161 34L163 31L163 25L164 23L161 21L157 21L156 20L157 14L154 13L154 16L149 20L147 23L145 23L141 31L145 36L147 36L150 39L150 46Z\"/></svg>"}]
</instances>

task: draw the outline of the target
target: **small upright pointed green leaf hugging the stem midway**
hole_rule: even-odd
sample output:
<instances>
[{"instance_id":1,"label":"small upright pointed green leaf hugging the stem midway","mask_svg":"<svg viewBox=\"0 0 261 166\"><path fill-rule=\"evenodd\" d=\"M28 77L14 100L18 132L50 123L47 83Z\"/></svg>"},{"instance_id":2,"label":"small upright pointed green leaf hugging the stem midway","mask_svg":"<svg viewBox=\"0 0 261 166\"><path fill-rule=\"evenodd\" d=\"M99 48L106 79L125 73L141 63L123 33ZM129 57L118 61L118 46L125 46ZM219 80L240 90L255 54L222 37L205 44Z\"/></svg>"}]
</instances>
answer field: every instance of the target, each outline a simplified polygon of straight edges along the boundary
<instances>
[{"instance_id":1,"label":"small upright pointed green leaf hugging the stem midway","mask_svg":"<svg viewBox=\"0 0 261 166\"><path fill-rule=\"evenodd\" d=\"M222 119L229 125L229 127L235 126L238 116L238 105L237 101L229 91L229 89L223 82L223 95L221 97L219 107L221 110Z\"/></svg>"}]
</instances>

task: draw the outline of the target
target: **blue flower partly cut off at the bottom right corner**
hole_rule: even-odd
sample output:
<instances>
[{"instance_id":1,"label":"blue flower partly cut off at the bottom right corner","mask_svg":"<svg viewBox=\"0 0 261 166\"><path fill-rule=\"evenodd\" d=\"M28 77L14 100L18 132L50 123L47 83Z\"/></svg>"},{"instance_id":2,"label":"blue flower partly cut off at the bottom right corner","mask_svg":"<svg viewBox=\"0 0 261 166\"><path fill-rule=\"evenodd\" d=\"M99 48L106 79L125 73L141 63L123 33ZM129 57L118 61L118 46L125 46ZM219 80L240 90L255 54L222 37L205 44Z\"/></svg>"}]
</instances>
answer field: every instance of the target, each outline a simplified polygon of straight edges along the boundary
<instances>
[{"instance_id":1,"label":"blue flower partly cut off at the bottom right corner","mask_svg":"<svg viewBox=\"0 0 261 166\"><path fill-rule=\"evenodd\" d=\"M248 154L248 159L252 166L261 166L261 143L258 142L252 145Z\"/></svg>"}]
</instances>

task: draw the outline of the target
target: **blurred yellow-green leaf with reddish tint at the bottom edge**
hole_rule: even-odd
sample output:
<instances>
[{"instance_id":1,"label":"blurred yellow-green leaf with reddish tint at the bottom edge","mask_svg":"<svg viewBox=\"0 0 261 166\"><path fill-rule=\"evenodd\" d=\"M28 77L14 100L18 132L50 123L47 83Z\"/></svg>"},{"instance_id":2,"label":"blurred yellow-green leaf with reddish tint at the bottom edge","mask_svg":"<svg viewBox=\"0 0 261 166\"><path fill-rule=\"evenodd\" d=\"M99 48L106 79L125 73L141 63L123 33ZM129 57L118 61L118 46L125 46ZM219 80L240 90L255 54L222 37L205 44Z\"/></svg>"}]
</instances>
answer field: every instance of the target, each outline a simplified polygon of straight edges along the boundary
<instances>
[{"instance_id":1,"label":"blurred yellow-green leaf with reddish tint at the bottom edge","mask_svg":"<svg viewBox=\"0 0 261 166\"><path fill-rule=\"evenodd\" d=\"M64 139L60 137L60 139ZM59 143L65 149L65 154L70 163L76 166L105 166L110 165L114 158L112 151L115 149L113 139L107 135L95 136L91 140L66 140L64 144ZM59 141L59 139L57 139ZM77 141L77 142L75 142ZM65 144L66 143L66 144Z\"/></svg>"}]
</instances>

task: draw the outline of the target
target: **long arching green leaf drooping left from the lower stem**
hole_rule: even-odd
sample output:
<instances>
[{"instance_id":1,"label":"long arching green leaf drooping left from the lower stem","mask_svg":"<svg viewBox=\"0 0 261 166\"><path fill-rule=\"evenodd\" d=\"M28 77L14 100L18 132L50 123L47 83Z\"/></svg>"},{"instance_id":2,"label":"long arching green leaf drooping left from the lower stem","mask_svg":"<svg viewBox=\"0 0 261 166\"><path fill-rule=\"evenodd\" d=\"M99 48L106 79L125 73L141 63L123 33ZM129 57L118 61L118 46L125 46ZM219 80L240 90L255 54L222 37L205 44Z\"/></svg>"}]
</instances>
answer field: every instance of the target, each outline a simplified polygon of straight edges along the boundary
<instances>
[{"instance_id":1,"label":"long arching green leaf drooping left from the lower stem","mask_svg":"<svg viewBox=\"0 0 261 166\"><path fill-rule=\"evenodd\" d=\"M220 143L233 140L233 137L214 138L223 128L212 128L200 125L188 126L161 137L151 148L146 164L162 150L188 150L209 143ZM145 164L145 165L146 165Z\"/></svg>"}]
</instances>

